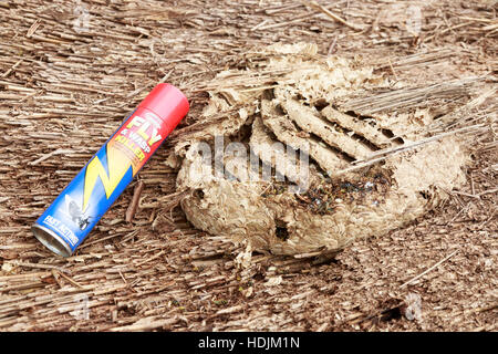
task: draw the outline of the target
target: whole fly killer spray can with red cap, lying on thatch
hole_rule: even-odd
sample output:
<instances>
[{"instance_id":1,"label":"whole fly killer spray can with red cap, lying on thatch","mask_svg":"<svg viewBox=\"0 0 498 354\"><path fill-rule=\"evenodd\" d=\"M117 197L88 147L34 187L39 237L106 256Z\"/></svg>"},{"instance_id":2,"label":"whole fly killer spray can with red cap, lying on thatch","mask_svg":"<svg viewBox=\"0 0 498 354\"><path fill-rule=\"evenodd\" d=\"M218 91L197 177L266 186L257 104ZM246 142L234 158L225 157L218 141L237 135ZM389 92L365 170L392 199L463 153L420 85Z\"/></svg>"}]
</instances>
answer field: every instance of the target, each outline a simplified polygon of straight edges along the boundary
<instances>
[{"instance_id":1,"label":"whole fly killer spray can with red cap, lying on thatch","mask_svg":"<svg viewBox=\"0 0 498 354\"><path fill-rule=\"evenodd\" d=\"M37 239L70 257L188 110L175 86L154 87L37 220Z\"/></svg>"}]
</instances>

